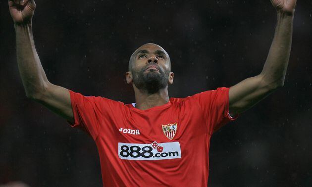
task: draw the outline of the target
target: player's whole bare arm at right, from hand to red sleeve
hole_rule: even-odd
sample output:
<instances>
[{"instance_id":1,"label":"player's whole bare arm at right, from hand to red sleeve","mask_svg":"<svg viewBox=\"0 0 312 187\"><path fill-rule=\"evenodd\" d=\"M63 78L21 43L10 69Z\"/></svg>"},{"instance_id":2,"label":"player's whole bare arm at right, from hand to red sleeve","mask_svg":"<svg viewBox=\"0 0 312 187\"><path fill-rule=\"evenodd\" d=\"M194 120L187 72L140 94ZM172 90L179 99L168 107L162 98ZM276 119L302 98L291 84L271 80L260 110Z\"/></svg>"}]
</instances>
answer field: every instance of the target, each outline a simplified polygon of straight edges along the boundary
<instances>
[{"instance_id":1,"label":"player's whole bare arm at right, from hand to red sleeve","mask_svg":"<svg viewBox=\"0 0 312 187\"><path fill-rule=\"evenodd\" d=\"M296 0L271 0L277 10L277 25L267 59L260 75L230 88L229 113L241 113L284 85L293 31Z\"/></svg>"}]
</instances>

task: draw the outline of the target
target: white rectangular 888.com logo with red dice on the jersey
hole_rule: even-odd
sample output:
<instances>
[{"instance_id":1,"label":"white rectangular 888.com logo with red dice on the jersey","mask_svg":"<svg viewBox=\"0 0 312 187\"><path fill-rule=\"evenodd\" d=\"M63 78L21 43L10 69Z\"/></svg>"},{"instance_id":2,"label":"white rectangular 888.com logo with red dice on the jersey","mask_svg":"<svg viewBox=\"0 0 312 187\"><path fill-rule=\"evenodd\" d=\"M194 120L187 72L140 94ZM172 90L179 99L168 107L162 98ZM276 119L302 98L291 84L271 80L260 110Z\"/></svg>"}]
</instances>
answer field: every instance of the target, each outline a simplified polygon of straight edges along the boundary
<instances>
[{"instance_id":1,"label":"white rectangular 888.com logo with red dice on the jersey","mask_svg":"<svg viewBox=\"0 0 312 187\"><path fill-rule=\"evenodd\" d=\"M123 160L166 160L181 158L179 142L151 144L118 143L118 156Z\"/></svg>"}]
</instances>

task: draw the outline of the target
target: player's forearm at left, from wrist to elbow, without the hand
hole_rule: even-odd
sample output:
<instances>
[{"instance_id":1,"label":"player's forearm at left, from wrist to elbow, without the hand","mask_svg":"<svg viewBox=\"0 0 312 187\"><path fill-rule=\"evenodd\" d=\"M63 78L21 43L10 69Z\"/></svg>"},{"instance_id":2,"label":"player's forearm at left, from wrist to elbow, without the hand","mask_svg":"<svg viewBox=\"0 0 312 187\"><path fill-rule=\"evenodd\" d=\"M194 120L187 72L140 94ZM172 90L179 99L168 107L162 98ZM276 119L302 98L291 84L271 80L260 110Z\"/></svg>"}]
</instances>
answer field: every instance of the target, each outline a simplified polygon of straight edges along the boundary
<instances>
[{"instance_id":1,"label":"player's forearm at left, from wrist to elbow, without the hand","mask_svg":"<svg viewBox=\"0 0 312 187\"><path fill-rule=\"evenodd\" d=\"M34 97L49 84L32 35L32 25L15 24L17 64L28 97Z\"/></svg>"}]
</instances>

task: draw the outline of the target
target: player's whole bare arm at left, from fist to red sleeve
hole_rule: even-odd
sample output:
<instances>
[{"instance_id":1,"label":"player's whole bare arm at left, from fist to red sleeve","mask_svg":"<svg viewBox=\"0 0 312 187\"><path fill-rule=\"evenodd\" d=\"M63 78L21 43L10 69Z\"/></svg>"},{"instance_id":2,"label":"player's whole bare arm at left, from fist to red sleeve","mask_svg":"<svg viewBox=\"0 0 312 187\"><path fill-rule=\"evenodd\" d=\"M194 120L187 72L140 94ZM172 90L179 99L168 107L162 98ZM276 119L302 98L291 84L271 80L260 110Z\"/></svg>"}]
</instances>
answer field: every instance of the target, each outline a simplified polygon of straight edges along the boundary
<instances>
[{"instance_id":1,"label":"player's whole bare arm at left, from fist to red sleeve","mask_svg":"<svg viewBox=\"0 0 312 187\"><path fill-rule=\"evenodd\" d=\"M48 81L35 48L32 34L34 0L9 0L8 4L16 32L18 69L27 97L73 122L68 90Z\"/></svg>"}]
</instances>

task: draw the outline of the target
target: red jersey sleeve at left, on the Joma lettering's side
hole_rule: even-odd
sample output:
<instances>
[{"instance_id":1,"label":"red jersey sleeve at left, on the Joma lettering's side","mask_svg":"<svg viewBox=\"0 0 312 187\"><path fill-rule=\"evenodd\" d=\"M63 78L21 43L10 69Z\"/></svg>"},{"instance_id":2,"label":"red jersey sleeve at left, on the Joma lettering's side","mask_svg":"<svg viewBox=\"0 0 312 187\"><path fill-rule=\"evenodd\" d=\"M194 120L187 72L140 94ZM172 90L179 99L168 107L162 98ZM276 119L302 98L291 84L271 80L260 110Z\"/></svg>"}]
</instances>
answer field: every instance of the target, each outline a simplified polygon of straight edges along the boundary
<instances>
[{"instance_id":1,"label":"red jersey sleeve at left, on the Joma lettering's side","mask_svg":"<svg viewBox=\"0 0 312 187\"><path fill-rule=\"evenodd\" d=\"M84 96L69 91L74 123L70 125L88 133L93 140L99 135L101 126L112 116L112 107L116 101L100 96Z\"/></svg>"}]
</instances>

